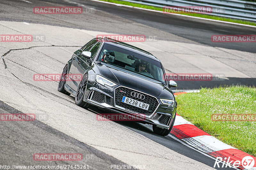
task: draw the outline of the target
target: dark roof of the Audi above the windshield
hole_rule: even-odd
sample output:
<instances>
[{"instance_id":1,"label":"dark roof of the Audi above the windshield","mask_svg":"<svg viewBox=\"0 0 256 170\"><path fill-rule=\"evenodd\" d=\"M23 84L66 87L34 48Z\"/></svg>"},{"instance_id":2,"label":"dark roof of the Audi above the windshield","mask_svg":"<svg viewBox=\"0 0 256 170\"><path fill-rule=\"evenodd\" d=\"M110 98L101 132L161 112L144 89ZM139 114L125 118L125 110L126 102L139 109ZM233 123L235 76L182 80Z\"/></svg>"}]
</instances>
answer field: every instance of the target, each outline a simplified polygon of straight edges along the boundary
<instances>
[{"instance_id":1,"label":"dark roof of the Audi above the windshield","mask_svg":"<svg viewBox=\"0 0 256 170\"><path fill-rule=\"evenodd\" d=\"M138 48L136 46L132 46L130 44L127 44L127 43L124 43L122 41L118 41L116 39L111 39L111 38L107 38L107 37L104 37L104 38L96 38L106 44L109 44L109 45L113 45L113 46L117 46L117 47L120 47L120 48L123 48L125 50L129 50L129 51L132 51L134 53L138 53L140 55L143 55L145 57L148 57L150 59L153 59L153 60L156 60L156 61L159 61L153 54L141 49L141 48Z\"/></svg>"}]
</instances>

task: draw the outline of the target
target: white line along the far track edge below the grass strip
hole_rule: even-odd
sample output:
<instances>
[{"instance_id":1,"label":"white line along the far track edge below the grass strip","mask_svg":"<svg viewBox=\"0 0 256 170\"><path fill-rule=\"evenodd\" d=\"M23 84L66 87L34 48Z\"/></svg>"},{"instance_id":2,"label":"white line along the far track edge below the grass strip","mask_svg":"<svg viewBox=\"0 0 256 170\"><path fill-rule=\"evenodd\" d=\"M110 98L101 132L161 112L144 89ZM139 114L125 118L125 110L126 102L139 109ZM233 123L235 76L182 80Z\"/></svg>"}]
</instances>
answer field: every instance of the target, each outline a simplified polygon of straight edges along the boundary
<instances>
[{"instance_id":1,"label":"white line along the far track edge below the grass strip","mask_svg":"<svg viewBox=\"0 0 256 170\"><path fill-rule=\"evenodd\" d=\"M129 6L129 5L116 4L116 3L112 3L112 2L106 2L106 1L99 1L99 0L90 0L90 1L101 2L101 3L105 3L105 4L112 4L112 5L116 5L116 6L123 6L123 7L128 7L128 8L135 8L135 9L145 10L145 11L164 13L163 11L150 10L150 9L146 9L146 8L140 8L140 7L134 7L134 6ZM188 17L188 18L203 19L203 20L207 20L207 21L214 21L214 22L221 22L221 23L226 23L226 24L241 25L241 26L248 26L248 27L256 28L256 26L254 26L254 25L239 24L239 23L234 23L234 22L220 21L220 20L208 19L208 18L200 18L200 17L194 17L194 16L182 15L182 14L174 14L174 13L168 13L168 14L182 16L182 17Z\"/></svg>"}]
</instances>

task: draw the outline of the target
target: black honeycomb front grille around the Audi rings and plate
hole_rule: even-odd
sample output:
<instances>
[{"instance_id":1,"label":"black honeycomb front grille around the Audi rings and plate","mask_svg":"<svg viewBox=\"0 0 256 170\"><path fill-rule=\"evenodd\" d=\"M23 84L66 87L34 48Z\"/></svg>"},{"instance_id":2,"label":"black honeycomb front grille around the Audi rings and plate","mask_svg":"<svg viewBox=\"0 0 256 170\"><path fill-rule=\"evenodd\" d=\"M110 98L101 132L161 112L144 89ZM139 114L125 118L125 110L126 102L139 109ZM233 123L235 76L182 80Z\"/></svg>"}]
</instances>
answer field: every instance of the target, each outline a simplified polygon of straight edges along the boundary
<instances>
[{"instance_id":1,"label":"black honeycomb front grille around the Audi rings and plate","mask_svg":"<svg viewBox=\"0 0 256 170\"><path fill-rule=\"evenodd\" d=\"M123 91L125 93L123 93L121 91ZM125 87L118 87L118 88L116 88L116 90L115 90L116 105L117 106L121 106L121 107L126 108L126 109L129 109L129 110L132 110L132 111L136 111L138 113L142 113L142 114L147 115L147 116L152 115L152 113L156 110L156 108L157 108L157 106L159 104L157 102L157 99L155 97L152 97L152 96L149 96L149 95L147 95L145 93L140 92L141 94L143 94L145 96L145 99L141 100L141 99L138 99L138 98L135 98L135 97L131 96L131 93L133 91L139 92L139 91L136 91L136 90L125 88ZM143 110L143 109L137 108L135 106L123 103L122 102L123 96L129 97L129 98L132 98L134 100L138 100L140 102L149 104L148 110Z\"/></svg>"}]
</instances>

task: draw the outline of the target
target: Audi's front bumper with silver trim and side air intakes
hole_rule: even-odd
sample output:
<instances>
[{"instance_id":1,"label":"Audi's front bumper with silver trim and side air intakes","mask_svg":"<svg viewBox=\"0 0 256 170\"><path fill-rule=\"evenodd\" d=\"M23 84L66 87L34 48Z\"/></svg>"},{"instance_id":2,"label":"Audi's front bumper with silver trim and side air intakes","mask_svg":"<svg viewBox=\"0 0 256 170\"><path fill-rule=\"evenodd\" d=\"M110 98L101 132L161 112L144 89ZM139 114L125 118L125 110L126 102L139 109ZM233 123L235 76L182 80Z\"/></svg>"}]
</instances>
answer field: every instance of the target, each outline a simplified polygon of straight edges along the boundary
<instances>
[{"instance_id":1,"label":"Audi's front bumper with silver trim and side air intakes","mask_svg":"<svg viewBox=\"0 0 256 170\"><path fill-rule=\"evenodd\" d=\"M164 129L170 129L172 120L176 113L176 104L173 108L167 107L167 105L162 104L161 101L156 98L156 100L158 100L158 105L156 110L151 115L147 116L136 114L124 110L122 107L116 105L115 89L119 87L120 86L116 86L114 88L105 87L97 82L93 82L93 84L87 83L84 101L101 109L109 110L112 113L121 113L134 117L137 120L140 119L140 123L152 124Z\"/></svg>"}]
</instances>

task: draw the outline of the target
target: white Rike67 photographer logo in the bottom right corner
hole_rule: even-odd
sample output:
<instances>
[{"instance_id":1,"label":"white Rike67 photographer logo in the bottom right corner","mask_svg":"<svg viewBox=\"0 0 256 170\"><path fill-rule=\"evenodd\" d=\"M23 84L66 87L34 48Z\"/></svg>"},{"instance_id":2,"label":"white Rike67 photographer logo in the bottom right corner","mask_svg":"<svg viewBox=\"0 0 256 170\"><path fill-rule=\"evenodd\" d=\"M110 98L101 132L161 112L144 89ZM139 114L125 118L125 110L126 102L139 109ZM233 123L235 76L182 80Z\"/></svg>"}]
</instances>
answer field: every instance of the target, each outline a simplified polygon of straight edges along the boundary
<instances>
[{"instance_id":1,"label":"white Rike67 photographer logo in the bottom right corner","mask_svg":"<svg viewBox=\"0 0 256 170\"><path fill-rule=\"evenodd\" d=\"M222 167L222 168L234 167L234 168L239 168L239 169L243 169L242 167L244 167L245 169L250 169L255 164L255 160L251 156L245 156L242 159L242 161L240 161L240 160L234 160L234 159L230 160L230 157L228 157L228 159L227 159L227 157L225 157L224 159L222 159L222 157L217 157L213 167L214 168L216 166L219 168L220 167Z\"/></svg>"}]
</instances>

